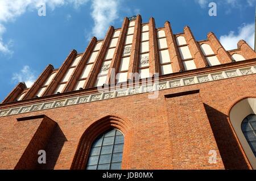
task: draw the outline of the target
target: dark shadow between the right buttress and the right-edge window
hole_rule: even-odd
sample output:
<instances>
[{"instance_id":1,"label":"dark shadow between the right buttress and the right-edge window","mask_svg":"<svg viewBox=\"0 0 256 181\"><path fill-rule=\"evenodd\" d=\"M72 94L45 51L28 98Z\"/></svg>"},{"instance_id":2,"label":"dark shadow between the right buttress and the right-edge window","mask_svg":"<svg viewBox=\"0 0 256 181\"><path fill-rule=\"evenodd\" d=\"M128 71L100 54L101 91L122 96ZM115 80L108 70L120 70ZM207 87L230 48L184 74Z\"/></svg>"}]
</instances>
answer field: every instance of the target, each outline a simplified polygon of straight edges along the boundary
<instances>
[{"instance_id":1,"label":"dark shadow between the right buttress and the right-edge window","mask_svg":"<svg viewBox=\"0 0 256 181\"><path fill-rule=\"evenodd\" d=\"M228 116L204 104L225 169L249 169L228 123Z\"/></svg>"}]
</instances>

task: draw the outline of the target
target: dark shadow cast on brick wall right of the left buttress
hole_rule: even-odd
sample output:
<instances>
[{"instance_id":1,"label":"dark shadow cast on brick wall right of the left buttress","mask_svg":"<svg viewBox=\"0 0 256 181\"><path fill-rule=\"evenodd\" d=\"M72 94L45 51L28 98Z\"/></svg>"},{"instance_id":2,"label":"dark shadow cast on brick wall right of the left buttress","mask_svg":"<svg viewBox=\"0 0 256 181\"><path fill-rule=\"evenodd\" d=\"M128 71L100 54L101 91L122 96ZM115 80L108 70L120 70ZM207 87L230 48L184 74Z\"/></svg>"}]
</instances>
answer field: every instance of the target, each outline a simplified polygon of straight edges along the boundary
<instances>
[{"instance_id":1,"label":"dark shadow cast on brick wall right of the left buttress","mask_svg":"<svg viewBox=\"0 0 256 181\"><path fill-rule=\"evenodd\" d=\"M65 141L67 141L67 138L59 125L56 125L46 147L46 164L38 165L37 169L54 169Z\"/></svg>"}]
</instances>

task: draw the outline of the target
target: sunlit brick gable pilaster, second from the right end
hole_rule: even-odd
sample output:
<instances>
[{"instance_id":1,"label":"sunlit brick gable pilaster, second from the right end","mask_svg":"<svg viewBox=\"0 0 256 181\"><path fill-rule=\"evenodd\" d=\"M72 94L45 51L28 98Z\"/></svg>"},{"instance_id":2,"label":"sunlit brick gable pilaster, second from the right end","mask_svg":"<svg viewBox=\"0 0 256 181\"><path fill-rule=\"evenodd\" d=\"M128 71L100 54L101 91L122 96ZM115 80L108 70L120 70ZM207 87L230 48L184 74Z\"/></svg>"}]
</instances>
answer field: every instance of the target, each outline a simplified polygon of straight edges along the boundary
<instances>
[{"instance_id":1,"label":"sunlit brick gable pilaster, second from the right end","mask_svg":"<svg viewBox=\"0 0 256 181\"><path fill-rule=\"evenodd\" d=\"M207 38L210 41L210 47L216 54L221 64L227 64L229 62L232 62L230 54L226 52L225 48L221 45L220 41L217 39L213 32L209 32L207 34Z\"/></svg>"}]
</instances>

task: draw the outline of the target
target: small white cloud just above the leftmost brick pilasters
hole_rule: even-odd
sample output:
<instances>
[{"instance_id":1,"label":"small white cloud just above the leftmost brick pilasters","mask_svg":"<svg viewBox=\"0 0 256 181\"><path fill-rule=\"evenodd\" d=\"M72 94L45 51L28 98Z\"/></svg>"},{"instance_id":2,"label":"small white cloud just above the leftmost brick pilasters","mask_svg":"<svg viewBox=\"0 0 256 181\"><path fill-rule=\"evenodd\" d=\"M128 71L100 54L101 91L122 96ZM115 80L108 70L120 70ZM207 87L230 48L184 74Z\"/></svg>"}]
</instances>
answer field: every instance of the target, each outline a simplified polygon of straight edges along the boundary
<instances>
[{"instance_id":1,"label":"small white cloud just above the leftmost brick pilasters","mask_svg":"<svg viewBox=\"0 0 256 181\"><path fill-rule=\"evenodd\" d=\"M23 66L22 70L19 73L14 73L13 82L25 82L27 87L31 87L36 80L35 72L30 69L30 66Z\"/></svg>"}]
</instances>

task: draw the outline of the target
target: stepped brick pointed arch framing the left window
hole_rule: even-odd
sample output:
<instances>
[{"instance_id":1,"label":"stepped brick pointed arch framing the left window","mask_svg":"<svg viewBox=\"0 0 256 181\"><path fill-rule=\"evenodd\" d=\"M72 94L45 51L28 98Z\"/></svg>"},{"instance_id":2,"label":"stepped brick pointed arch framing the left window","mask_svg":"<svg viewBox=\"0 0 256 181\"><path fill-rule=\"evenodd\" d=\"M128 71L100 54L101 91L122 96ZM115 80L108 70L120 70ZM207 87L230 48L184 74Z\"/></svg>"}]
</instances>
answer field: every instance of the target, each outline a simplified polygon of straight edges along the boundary
<instances>
[{"instance_id":1,"label":"stepped brick pointed arch framing the left window","mask_svg":"<svg viewBox=\"0 0 256 181\"><path fill-rule=\"evenodd\" d=\"M118 129L123 133L123 136L125 136L122 168L124 165L127 165L126 162L129 159L127 159L128 155L126 153L129 153L129 145L132 140L131 137L133 136L131 132L131 122L128 119L122 119L120 116L108 115L95 121L82 134L71 165L72 170L85 169L93 141L110 128Z\"/></svg>"}]
</instances>

